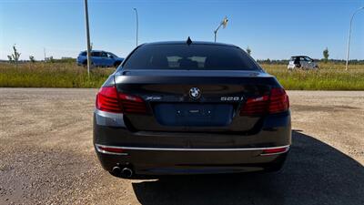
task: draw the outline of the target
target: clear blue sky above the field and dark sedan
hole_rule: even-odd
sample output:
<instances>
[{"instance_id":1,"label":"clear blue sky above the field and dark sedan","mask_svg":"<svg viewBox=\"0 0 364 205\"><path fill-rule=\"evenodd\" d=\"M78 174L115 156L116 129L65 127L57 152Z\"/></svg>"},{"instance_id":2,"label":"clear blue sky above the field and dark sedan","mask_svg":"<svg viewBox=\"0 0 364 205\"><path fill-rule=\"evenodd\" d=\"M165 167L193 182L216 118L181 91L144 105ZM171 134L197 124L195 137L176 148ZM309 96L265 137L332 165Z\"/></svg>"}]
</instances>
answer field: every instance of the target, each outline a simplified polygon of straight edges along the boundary
<instances>
[{"instance_id":1,"label":"clear blue sky above the field and dark sedan","mask_svg":"<svg viewBox=\"0 0 364 205\"><path fill-rule=\"evenodd\" d=\"M221 19L229 19L217 41L250 47L258 59L292 55L343 59L352 12L364 0L308 1L111 1L89 0L91 41L95 49L126 56L136 42L213 41ZM0 59L16 44L21 58L76 57L86 49L84 0L0 0ZM364 10L354 18L350 58L364 58Z\"/></svg>"}]
</instances>

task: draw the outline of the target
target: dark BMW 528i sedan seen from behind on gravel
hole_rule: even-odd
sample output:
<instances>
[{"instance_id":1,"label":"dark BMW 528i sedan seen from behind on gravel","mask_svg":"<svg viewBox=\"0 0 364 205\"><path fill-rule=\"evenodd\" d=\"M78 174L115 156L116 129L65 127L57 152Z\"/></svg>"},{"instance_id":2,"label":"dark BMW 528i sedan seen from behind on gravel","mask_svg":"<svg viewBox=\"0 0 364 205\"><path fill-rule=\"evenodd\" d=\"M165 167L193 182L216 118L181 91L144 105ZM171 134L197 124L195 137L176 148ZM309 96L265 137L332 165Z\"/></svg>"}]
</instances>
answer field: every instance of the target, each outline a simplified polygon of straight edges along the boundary
<instances>
[{"instance_id":1,"label":"dark BMW 528i sedan seen from behind on gravel","mask_svg":"<svg viewBox=\"0 0 364 205\"><path fill-rule=\"evenodd\" d=\"M238 46L144 44L98 91L94 144L122 178L277 171L291 144L288 96Z\"/></svg>"}]
</instances>

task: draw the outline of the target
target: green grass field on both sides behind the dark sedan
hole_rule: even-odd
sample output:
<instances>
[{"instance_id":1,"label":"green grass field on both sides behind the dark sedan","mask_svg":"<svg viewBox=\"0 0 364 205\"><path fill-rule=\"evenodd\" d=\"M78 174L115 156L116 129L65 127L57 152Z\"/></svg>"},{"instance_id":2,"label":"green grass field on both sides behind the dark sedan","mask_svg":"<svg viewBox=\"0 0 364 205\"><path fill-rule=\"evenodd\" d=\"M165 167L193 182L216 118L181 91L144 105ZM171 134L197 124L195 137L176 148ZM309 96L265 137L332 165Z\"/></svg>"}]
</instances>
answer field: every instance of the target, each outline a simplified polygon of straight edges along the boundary
<instances>
[{"instance_id":1,"label":"green grass field on both sides behind the dark sedan","mask_svg":"<svg viewBox=\"0 0 364 205\"><path fill-rule=\"evenodd\" d=\"M286 89L364 90L364 65L320 63L318 71L288 71L286 65L261 65ZM0 87L100 87L114 68L93 69L67 63L0 63Z\"/></svg>"}]
</instances>

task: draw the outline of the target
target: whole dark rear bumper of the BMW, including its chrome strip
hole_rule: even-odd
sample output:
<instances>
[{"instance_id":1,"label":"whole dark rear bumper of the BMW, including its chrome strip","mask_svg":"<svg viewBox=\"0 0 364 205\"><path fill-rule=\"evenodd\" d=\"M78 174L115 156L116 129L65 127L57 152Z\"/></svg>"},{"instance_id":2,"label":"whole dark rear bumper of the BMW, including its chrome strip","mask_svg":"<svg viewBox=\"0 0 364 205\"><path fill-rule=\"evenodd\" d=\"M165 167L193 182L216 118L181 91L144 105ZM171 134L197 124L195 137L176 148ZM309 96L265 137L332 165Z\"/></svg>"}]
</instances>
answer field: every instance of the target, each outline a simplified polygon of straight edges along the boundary
<instances>
[{"instance_id":1,"label":"whole dark rear bumper of the BMW, including its chrome strip","mask_svg":"<svg viewBox=\"0 0 364 205\"><path fill-rule=\"evenodd\" d=\"M122 114L94 115L94 145L104 169L133 169L136 175L262 171L279 167L291 144L289 112L265 119L255 134L130 131ZM99 147L122 149L112 153ZM287 148L263 155L264 149Z\"/></svg>"}]
</instances>

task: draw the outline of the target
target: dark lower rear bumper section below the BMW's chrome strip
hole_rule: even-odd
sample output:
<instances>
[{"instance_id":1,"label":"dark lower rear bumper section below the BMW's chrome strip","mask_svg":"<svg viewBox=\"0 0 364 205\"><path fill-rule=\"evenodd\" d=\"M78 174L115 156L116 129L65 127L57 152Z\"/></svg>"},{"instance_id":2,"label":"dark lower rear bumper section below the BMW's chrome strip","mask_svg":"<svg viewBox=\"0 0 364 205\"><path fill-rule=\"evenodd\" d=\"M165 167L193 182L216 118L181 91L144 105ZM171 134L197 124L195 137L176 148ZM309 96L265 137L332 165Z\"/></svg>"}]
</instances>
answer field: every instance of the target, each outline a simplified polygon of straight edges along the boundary
<instances>
[{"instance_id":1,"label":"dark lower rear bumper section below the BMW's chrome strip","mask_svg":"<svg viewBox=\"0 0 364 205\"><path fill-rule=\"evenodd\" d=\"M104 169L133 169L136 175L213 174L264 171L280 167L289 146L275 154L263 154L263 149L167 149L113 147L122 153L107 153L98 149L98 159Z\"/></svg>"}]
</instances>

